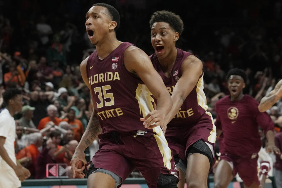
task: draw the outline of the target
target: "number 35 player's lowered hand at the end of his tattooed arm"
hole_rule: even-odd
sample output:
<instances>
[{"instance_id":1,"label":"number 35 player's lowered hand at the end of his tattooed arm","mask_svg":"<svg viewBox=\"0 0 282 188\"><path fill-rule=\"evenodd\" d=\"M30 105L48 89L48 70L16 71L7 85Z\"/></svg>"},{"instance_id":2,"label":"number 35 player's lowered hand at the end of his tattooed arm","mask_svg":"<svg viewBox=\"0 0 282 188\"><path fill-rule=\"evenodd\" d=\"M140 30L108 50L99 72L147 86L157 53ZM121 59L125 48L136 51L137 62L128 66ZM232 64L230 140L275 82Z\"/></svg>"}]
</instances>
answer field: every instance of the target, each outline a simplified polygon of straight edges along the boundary
<instances>
[{"instance_id":1,"label":"number 35 player's lowered hand at the end of his tattooed arm","mask_svg":"<svg viewBox=\"0 0 282 188\"><path fill-rule=\"evenodd\" d=\"M80 162L83 162L83 164L86 164L87 161L85 159L85 153L83 151L75 150L73 157L71 158L70 164L71 164L71 170L73 172L73 178L84 178L85 174L83 173L84 166L81 168L78 168L78 165ZM76 175L76 176L75 176Z\"/></svg>"}]
</instances>

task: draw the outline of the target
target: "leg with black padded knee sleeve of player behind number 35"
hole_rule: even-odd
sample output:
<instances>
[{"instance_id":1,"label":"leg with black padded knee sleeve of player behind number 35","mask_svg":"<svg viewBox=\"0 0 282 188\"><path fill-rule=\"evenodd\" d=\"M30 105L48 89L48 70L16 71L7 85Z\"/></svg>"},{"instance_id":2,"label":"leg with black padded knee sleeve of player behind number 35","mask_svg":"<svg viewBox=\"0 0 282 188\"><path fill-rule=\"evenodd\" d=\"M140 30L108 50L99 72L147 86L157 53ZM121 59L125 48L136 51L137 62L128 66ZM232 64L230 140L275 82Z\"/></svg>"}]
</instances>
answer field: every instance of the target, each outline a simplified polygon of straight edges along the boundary
<instances>
[{"instance_id":1,"label":"leg with black padded knee sleeve of player behind number 35","mask_svg":"<svg viewBox=\"0 0 282 188\"><path fill-rule=\"evenodd\" d=\"M213 146L210 145L210 147L213 150ZM187 187L208 187L209 170L214 161L214 155L210 147L203 140L198 140L187 149Z\"/></svg>"}]
</instances>

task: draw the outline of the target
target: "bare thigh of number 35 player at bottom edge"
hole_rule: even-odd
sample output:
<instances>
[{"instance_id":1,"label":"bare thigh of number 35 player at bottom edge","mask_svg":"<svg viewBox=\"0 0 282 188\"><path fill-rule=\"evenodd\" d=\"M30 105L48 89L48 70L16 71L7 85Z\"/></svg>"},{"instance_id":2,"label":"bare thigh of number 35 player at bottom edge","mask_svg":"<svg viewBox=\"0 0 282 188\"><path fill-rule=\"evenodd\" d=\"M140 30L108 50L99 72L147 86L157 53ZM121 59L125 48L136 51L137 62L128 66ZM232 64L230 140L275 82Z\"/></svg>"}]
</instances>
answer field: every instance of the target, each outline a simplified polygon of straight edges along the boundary
<instances>
[{"instance_id":1,"label":"bare thigh of number 35 player at bottom edge","mask_svg":"<svg viewBox=\"0 0 282 188\"><path fill-rule=\"evenodd\" d=\"M95 172L89 175L87 188L116 188L115 179L109 174Z\"/></svg>"}]
</instances>

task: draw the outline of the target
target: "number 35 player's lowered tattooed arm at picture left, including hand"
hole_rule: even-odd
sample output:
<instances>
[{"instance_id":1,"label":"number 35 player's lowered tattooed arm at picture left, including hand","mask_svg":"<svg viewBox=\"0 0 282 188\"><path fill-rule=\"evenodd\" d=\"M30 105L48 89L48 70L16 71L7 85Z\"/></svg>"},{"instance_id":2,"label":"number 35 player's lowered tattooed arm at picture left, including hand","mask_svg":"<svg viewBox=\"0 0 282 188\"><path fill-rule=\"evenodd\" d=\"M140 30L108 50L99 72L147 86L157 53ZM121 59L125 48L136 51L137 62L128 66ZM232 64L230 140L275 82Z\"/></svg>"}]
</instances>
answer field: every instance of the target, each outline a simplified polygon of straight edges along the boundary
<instances>
[{"instance_id":1,"label":"number 35 player's lowered tattooed arm at picture left, including hand","mask_svg":"<svg viewBox=\"0 0 282 188\"><path fill-rule=\"evenodd\" d=\"M91 93L91 96L92 96L91 87L90 87L90 84L88 82L88 78L87 78L87 75L86 75L87 60L88 60L88 58L86 58L80 64L80 72L81 72L81 76L83 78L83 81L85 82L85 84L90 89L90 93ZM93 96L92 96L92 101L93 101L93 106L96 107L96 103L95 103L95 100L94 100ZM98 118L97 118L96 112L97 111L94 108L94 110L92 112L92 115L90 117L90 120L88 122L88 125L86 127L86 130L83 133L83 135L82 135L82 137L81 137L81 139L80 139L80 141L78 143L78 146L75 148L75 152L74 152L73 157L72 157L72 159L70 161L71 169L73 171L73 178L75 178L75 175L77 175L79 178L84 178L84 174L82 172L84 167L79 169L78 168L78 164L80 162L83 162L83 164L87 163L87 161L85 160L84 150L92 142L94 142L94 140L98 137L99 134L102 133L102 129L101 129L100 123L98 122Z\"/></svg>"}]
</instances>

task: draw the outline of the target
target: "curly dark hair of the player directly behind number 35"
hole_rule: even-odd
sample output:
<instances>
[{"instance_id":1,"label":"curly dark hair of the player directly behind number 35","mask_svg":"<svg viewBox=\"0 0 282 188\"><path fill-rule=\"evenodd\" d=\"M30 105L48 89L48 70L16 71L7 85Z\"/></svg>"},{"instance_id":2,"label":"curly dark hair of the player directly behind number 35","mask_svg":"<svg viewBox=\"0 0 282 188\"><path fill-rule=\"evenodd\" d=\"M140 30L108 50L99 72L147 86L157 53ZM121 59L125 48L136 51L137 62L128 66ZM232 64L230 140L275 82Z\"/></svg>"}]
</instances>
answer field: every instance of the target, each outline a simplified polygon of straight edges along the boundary
<instances>
[{"instance_id":1,"label":"curly dark hair of the player directly behind number 35","mask_svg":"<svg viewBox=\"0 0 282 188\"><path fill-rule=\"evenodd\" d=\"M162 10L154 12L149 21L151 28L155 22L168 23L169 26L174 30L174 32L178 32L179 35L182 34L184 29L184 24L180 16L171 11Z\"/></svg>"}]
</instances>

